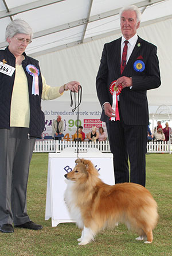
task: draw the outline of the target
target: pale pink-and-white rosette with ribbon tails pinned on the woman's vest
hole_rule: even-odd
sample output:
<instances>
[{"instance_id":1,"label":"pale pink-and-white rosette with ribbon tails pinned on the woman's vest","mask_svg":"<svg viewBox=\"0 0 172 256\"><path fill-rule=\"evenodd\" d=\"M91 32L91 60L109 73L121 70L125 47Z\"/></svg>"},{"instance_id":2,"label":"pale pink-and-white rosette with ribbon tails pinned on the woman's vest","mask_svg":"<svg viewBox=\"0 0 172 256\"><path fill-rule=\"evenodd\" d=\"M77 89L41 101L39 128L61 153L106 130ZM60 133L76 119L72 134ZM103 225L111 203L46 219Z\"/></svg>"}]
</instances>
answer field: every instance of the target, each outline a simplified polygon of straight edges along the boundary
<instances>
[{"instance_id":1,"label":"pale pink-and-white rosette with ribbon tails pinned on the woman's vest","mask_svg":"<svg viewBox=\"0 0 172 256\"><path fill-rule=\"evenodd\" d=\"M26 71L29 73L29 75L32 75L32 94L39 95L39 81L38 81L38 75L40 75L40 70L32 65L29 64L26 66Z\"/></svg>"}]
</instances>

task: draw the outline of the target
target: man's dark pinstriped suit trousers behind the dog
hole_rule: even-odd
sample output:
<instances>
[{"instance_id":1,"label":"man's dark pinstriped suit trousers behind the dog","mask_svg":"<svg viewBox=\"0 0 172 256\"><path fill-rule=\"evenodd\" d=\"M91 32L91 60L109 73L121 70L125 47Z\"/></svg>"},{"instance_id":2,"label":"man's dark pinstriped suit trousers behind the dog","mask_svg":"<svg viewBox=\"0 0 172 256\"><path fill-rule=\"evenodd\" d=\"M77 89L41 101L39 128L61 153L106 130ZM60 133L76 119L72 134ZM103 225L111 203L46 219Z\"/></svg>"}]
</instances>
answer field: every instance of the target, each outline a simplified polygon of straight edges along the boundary
<instances>
[{"instance_id":1,"label":"man's dark pinstriped suit trousers behind the dog","mask_svg":"<svg viewBox=\"0 0 172 256\"><path fill-rule=\"evenodd\" d=\"M147 125L126 125L120 121L106 123L111 152L114 155L115 183L146 184ZM128 168L130 160L130 177Z\"/></svg>"}]
</instances>

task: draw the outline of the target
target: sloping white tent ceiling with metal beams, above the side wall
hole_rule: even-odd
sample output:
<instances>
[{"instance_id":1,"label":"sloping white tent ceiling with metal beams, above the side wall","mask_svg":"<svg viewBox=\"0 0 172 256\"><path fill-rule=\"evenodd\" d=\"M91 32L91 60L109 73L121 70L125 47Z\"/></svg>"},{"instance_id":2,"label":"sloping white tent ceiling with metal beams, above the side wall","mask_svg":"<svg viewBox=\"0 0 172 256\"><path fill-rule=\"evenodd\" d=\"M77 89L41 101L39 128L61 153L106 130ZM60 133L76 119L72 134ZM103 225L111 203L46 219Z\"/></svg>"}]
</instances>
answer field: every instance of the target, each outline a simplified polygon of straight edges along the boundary
<instances>
[{"instance_id":1,"label":"sloping white tent ceiling with metal beams, above the side wall","mask_svg":"<svg viewBox=\"0 0 172 256\"><path fill-rule=\"evenodd\" d=\"M140 7L142 26L172 17L172 0L1 0L0 48L7 45L5 28L15 18L33 28L27 48L32 56L114 35L120 29L119 10L128 4Z\"/></svg>"}]
</instances>

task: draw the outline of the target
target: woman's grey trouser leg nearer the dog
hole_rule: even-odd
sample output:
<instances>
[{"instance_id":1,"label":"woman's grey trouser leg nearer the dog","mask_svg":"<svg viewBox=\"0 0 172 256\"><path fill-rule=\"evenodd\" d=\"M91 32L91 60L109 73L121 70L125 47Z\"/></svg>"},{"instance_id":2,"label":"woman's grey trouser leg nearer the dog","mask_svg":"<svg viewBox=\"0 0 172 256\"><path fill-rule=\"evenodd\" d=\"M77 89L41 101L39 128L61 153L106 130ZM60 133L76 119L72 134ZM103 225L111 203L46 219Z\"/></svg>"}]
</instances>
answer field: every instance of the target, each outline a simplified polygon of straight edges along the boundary
<instances>
[{"instance_id":1,"label":"woman's grey trouser leg nearer the dog","mask_svg":"<svg viewBox=\"0 0 172 256\"><path fill-rule=\"evenodd\" d=\"M29 166L32 159L36 138L28 139L27 128L19 128L18 145L13 163L12 211L14 225L30 221L27 213L26 190L28 185Z\"/></svg>"}]
</instances>

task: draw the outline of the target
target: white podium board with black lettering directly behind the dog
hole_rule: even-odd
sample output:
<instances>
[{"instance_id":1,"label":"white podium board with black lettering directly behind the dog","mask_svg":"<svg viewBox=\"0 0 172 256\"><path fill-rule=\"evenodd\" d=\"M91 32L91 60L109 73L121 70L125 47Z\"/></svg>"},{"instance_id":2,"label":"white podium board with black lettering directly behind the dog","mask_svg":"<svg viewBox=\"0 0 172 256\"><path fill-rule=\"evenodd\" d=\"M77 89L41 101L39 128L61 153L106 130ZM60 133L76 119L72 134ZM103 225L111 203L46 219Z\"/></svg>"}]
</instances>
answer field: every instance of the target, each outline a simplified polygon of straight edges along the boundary
<instances>
[{"instance_id":1,"label":"white podium board with black lettering directly behind the dog","mask_svg":"<svg viewBox=\"0 0 172 256\"><path fill-rule=\"evenodd\" d=\"M96 148L90 148L87 152L79 152L78 157L91 160L103 182L115 184L113 154L101 153ZM64 202L64 192L67 188L67 179L64 175L73 170L76 159L77 153L74 148L66 148L61 153L49 153L45 220L51 217L52 227L59 223L75 222L71 219Z\"/></svg>"}]
</instances>

